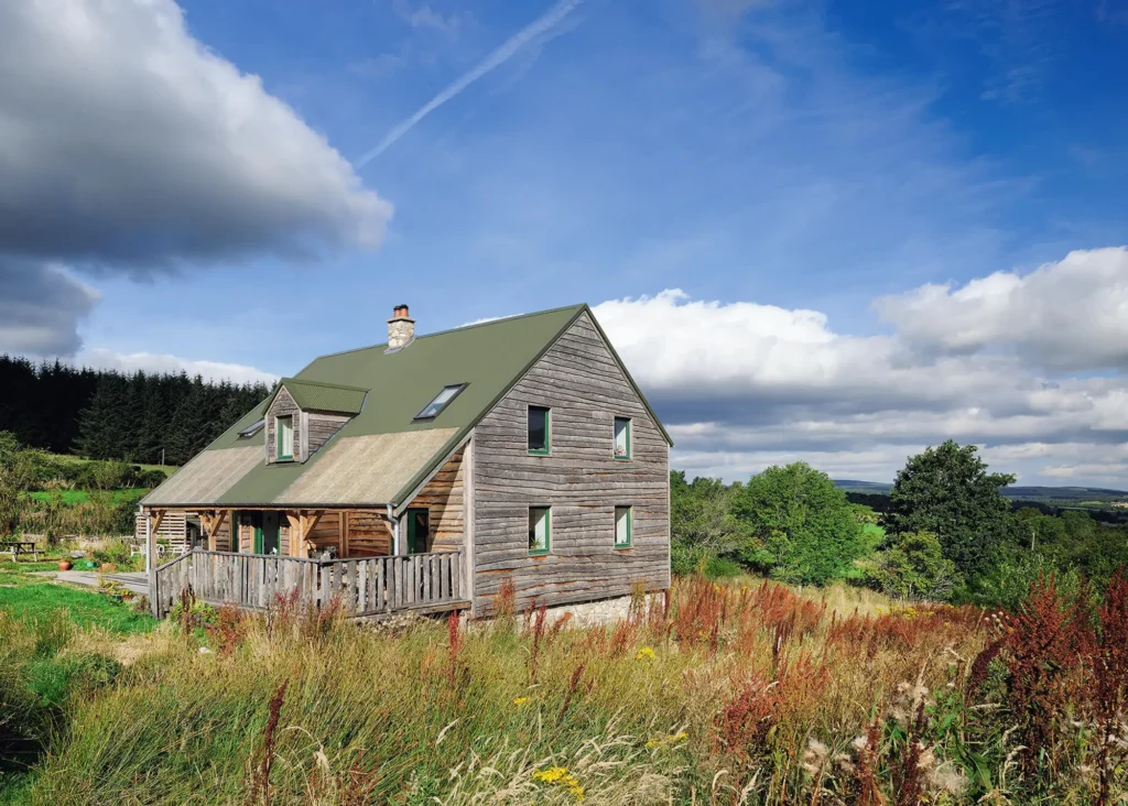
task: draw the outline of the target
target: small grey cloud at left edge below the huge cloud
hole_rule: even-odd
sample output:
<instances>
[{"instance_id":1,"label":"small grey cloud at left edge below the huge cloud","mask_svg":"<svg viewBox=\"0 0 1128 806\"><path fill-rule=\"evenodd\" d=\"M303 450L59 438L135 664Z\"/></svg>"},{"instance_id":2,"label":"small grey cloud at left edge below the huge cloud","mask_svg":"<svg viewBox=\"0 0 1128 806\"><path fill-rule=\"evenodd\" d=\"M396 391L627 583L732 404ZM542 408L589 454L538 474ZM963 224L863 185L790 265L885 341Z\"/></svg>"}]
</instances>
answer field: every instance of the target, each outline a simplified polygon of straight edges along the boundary
<instances>
[{"instance_id":1,"label":"small grey cloud at left edge below the huge cloud","mask_svg":"<svg viewBox=\"0 0 1128 806\"><path fill-rule=\"evenodd\" d=\"M98 292L54 264L0 255L0 353L71 355Z\"/></svg>"}]
</instances>

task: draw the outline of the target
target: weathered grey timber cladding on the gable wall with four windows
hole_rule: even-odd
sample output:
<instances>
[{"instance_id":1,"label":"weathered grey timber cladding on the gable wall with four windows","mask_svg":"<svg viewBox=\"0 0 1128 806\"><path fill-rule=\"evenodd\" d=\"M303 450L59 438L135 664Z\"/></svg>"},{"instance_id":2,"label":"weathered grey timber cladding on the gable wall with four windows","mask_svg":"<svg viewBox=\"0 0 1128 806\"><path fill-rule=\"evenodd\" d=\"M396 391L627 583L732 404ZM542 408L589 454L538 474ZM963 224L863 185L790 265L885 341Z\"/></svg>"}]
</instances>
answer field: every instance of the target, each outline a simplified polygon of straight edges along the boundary
<instances>
[{"instance_id":1,"label":"weathered grey timber cladding on the gable wall with four windows","mask_svg":"<svg viewBox=\"0 0 1128 806\"><path fill-rule=\"evenodd\" d=\"M529 455L528 407L547 406L550 452ZM614 419L632 419L616 460ZM522 604L619 596L670 584L669 445L584 313L474 429L475 610L512 577ZM530 506L552 507L552 550L530 557ZM615 548L615 507L633 507Z\"/></svg>"}]
</instances>

